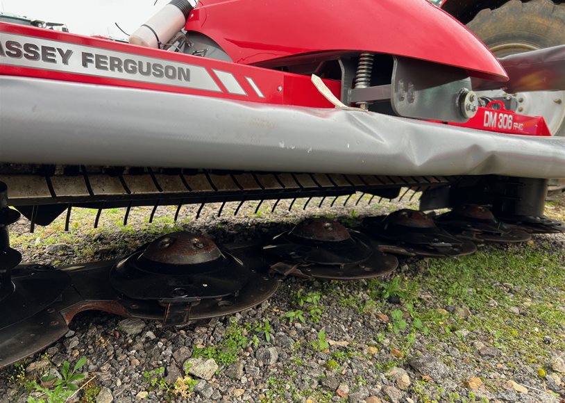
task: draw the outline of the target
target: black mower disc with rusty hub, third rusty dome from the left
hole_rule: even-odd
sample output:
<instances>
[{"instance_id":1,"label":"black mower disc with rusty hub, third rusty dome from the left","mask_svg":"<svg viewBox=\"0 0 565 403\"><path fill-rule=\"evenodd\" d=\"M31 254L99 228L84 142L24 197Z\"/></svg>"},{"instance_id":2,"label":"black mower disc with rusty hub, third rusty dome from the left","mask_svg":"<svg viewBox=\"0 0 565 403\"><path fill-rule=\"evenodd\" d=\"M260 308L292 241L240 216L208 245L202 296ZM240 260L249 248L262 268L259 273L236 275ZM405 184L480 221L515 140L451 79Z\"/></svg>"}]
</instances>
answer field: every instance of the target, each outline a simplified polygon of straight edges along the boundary
<instances>
[{"instance_id":1,"label":"black mower disc with rusty hub, third rusty dome from the left","mask_svg":"<svg viewBox=\"0 0 565 403\"><path fill-rule=\"evenodd\" d=\"M378 249L405 256L463 256L473 254L473 242L460 240L439 229L421 211L403 209L389 215L367 217L364 231L378 239Z\"/></svg>"}]
</instances>

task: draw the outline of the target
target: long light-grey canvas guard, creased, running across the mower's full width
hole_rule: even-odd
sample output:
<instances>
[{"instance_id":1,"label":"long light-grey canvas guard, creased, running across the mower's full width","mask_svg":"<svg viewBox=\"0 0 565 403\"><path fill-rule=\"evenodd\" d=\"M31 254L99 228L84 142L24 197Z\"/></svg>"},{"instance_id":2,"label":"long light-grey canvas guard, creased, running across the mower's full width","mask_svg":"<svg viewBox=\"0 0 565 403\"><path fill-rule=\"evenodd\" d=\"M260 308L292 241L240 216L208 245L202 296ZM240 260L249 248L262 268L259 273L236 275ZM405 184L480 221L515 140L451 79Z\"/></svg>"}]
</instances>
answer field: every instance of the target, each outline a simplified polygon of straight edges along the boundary
<instances>
[{"instance_id":1,"label":"long light-grey canvas guard, creased, running across the mower's full width","mask_svg":"<svg viewBox=\"0 0 565 403\"><path fill-rule=\"evenodd\" d=\"M4 76L0 161L561 178L565 138Z\"/></svg>"}]
</instances>

